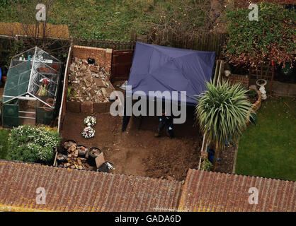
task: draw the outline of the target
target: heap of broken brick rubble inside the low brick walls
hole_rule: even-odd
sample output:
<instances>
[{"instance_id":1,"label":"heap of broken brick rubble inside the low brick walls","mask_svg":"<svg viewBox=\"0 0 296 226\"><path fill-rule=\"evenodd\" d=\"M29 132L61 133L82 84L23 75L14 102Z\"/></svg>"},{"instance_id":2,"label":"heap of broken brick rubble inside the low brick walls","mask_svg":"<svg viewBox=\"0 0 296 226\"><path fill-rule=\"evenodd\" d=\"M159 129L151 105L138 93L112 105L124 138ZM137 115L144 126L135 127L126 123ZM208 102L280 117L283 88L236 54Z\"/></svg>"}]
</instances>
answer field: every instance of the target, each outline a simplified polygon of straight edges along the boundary
<instances>
[{"instance_id":1,"label":"heap of broken brick rubble inside the low brick walls","mask_svg":"<svg viewBox=\"0 0 296 226\"><path fill-rule=\"evenodd\" d=\"M74 88L70 101L109 102L113 85L108 80L110 74L98 64L88 64L85 59L74 58L70 65L69 82Z\"/></svg>"}]
</instances>

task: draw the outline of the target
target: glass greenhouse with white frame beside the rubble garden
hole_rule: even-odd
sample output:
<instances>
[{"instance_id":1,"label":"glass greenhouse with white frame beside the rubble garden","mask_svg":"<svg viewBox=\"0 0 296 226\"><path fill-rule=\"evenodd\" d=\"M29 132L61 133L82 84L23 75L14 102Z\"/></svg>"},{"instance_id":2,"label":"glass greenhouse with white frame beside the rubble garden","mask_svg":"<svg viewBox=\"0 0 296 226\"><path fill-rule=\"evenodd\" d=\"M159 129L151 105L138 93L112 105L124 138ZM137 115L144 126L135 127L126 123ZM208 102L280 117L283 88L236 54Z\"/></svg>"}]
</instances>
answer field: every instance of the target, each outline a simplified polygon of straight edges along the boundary
<instances>
[{"instance_id":1,"label":"glass greenhouse with white frame beside the rubble garden","mask_svg":"<svg viewBox=\"0 0 296 226\"><path fill-rule=\"evenodd\" d=\"M55 119L62 63L39 47L11 59L2 96L2 124L50 125Z\"/></svg>"}]
</instances>

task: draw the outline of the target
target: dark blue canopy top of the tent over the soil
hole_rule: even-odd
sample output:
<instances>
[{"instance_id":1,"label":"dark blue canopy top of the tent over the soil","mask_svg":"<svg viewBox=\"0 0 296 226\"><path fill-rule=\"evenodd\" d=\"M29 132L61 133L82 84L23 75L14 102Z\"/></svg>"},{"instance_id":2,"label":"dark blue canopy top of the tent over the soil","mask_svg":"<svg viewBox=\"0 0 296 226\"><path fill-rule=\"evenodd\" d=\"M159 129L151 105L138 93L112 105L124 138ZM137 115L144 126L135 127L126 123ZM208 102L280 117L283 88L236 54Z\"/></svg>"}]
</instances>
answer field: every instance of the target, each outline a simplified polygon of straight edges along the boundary
<instances>
[{"instance_id":1,"label":"dark blue canopy top of the tent over the soil","mask_svg":"<svg viewBox=\"0 0 296 226\"><path fill-rule=\"evenodd\" d=\"M132 85L132 93L141 90L146 96L149 91L178 91L179 103L180 91L186 91L187 105L195 105L197 102L190 97L205 91L205 83L212 77L215 55L137 42L127 85Z\"/></svg>"}]
</instances>

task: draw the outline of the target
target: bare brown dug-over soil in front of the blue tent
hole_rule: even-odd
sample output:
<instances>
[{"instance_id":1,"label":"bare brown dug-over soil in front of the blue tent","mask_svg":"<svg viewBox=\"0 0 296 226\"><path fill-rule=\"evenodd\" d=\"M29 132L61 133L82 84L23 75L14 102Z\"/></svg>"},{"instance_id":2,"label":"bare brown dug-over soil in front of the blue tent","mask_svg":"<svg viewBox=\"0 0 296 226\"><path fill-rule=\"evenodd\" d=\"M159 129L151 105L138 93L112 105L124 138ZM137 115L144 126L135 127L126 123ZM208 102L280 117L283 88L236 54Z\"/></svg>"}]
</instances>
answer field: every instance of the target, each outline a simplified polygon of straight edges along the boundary
<instances>
[{"instance_id":1,"label":"bare brown dug-over soil in front of the blue tent","mask_svg":"<svg viewBox=\"0 0 296 226\"><path fill-rule=\"evenodd\" d=\"M132 117L127 131L121 132L123 117L109 113L93 114L96 134L81 136L87 114L67 112L63 126L63 141L74 140L86 148L100 148L105 159L113 163L110 172L141 177L183 180L188 169L197 169L202 136L193 126L193 111L188 111L185 124L175 125L175 137L163 134L155 138L158 117Z\"/></svg>"}]
</instances>

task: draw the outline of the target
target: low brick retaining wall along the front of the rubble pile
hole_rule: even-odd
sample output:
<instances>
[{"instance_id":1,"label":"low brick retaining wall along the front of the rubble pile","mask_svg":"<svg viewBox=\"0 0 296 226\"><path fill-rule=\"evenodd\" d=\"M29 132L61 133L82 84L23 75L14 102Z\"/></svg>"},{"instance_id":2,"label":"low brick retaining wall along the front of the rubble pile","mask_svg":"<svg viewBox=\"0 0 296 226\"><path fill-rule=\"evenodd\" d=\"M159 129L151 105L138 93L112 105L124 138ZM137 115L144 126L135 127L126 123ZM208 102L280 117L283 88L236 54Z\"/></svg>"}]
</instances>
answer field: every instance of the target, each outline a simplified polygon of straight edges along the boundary
<instances>
[{"instance_id":1,"label":"low brick retaining wall along the front of the rubble pile","mask_svg":"<svg viewBox=\"0 0 296 226\"><path fill-rule=\"evenodd\" d=\"M78 101L69 101L66 102L67 112L72 113L106 113L110 111L110 105L112 102L78 102Z\"/></svg>"}]
</instances>

